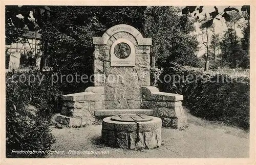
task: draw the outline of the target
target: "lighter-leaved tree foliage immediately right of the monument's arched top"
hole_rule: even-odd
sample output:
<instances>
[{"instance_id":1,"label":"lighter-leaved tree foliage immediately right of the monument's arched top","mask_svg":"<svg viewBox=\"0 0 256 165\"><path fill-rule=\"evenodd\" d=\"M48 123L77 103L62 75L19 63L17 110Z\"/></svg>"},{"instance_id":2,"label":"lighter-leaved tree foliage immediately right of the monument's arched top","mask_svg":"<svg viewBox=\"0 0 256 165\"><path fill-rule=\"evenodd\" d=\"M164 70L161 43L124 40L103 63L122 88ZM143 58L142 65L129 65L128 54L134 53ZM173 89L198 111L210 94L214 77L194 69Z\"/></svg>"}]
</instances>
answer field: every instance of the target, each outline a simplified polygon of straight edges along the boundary
<instances>
[{"instance_id":1,"label":"lighter-leaved tree foliage immediately right of the monument's arched top","mask_svg":"<svg viewBox=\"0 0 256 165\"><path fill-rule=\"evenodd\" d=\"M171 61L198 65L198 41L190 35L195 30L193 21L179 12L179 8L167 6L148 7L145 12L145 36L152 38L151 55L156 57L157 66L165 67Z\"/></svg>"}]
</instances>

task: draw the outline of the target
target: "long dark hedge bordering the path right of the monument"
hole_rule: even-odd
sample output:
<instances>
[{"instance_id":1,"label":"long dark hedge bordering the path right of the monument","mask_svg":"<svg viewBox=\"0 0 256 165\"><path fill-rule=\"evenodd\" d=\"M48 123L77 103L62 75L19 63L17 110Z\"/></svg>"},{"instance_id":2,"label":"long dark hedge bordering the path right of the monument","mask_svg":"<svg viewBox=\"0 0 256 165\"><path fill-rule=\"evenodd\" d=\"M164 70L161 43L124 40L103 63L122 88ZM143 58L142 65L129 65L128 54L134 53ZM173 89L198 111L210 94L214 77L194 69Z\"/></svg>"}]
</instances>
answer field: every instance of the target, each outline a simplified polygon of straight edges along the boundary
<instances>
[{"instance_id":1,"label":"long dark hedge bordering the path right of the monument","mask_svg":"<svg viewBox=\"0 0 256 165\"><path fill-rule=\"evenodd\" d=\"M185 79L176 83L163 82L159 88L183 95L183 104L191 114L249 129L249 77L182 69L176 74ZM193 79L186 78L187 75Z\"/></svg>"}]
</instances>

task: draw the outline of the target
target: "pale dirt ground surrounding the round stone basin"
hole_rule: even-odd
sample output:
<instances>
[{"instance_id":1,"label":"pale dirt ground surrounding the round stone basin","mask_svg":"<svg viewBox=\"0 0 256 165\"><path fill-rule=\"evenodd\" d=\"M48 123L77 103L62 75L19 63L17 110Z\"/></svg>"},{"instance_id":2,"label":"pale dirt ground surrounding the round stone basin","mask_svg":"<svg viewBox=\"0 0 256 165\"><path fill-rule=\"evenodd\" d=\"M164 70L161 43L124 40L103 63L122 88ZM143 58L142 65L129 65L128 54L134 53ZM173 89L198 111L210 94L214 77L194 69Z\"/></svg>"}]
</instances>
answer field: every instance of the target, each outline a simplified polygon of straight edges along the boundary
<instances>
[{"instance_id":1,"label":"pale dirt ground surrounding the round stone basin","mask_svg":"<svg viewBox=\"0 0 256 165\"><path fill-rule=\"evenodd\" d=\"M162 128L162 146L151 150L125 150L100 144L101 125L82 128L52 128L53 149L62 153L49 158L248 158L249 132L220 122L204 121L189 113L184 130ZM69 153L87 151L86 153ZM106 151L91 152L91 151ZM90 154L89 154L90 153ZM92 154L91 154L92 153Z\"/></svg>"}]
</instances>

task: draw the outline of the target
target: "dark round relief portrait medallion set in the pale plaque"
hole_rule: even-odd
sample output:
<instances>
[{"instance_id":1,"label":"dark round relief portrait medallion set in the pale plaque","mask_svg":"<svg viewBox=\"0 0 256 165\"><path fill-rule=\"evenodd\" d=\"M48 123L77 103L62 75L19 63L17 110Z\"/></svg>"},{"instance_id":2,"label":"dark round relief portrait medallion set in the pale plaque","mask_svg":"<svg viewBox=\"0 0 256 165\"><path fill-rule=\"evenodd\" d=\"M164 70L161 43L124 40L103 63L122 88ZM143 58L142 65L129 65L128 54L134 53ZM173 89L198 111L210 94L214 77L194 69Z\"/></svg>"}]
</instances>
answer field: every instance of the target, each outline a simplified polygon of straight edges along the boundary
<instances>
[{"instance_id":1,"label":"dark round relief portrait medallion set in the pale plaque","mask_svg":"<svg viewBox=\"0 0 256 165\"><path fill-rule=\"evenodd\" d=\"M119 59L126 59L131 54L131 48L128 44L121 42L115 46L114 52Z\"/></svg>"}]
</instances>

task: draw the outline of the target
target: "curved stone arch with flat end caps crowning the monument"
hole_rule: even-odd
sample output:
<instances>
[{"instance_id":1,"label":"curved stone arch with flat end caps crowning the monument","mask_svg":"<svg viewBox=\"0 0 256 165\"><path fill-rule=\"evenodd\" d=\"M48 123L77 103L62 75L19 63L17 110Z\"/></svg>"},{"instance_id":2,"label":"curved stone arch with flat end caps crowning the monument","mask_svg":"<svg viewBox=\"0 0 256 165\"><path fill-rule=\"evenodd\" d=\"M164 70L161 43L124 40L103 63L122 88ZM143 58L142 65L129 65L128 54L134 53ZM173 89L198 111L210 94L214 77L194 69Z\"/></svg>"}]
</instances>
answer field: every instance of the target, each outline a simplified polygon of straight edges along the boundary
<instances>
[{"instance_id":1,"label":"curved stone arch with flat end caps crowning the monument","mask_svg":"<svg viewBox=\"0 0 256 165\"><path fill-rule=\"evenodd\" d=\"M130 33L137 40L138 45L152 45L151 38L143 38L143 36L137 29L127 24L118 24L118 25L112 26L102 35L102 37L94 37L93 44L105 45L110 39L110 37L118 32Z\"/></svg>"}]
</instances>

